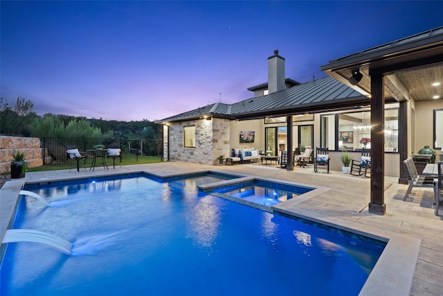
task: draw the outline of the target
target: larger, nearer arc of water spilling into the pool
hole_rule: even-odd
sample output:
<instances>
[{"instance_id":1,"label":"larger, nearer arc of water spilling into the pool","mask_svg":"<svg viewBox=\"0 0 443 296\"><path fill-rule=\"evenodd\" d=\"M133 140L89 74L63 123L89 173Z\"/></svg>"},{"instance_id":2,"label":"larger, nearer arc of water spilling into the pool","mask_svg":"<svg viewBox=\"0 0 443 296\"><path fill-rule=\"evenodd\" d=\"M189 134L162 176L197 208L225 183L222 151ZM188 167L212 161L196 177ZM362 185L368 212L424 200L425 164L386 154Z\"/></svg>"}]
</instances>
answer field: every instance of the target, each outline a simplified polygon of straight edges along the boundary
<instances>
[{"instance_id":1,"label":"larger, nearer arc of water spilling into the pool","mask_svg":"<svg viewBox=\"0 0 443 296\"><path fill-rule=\"evenodd\" d=\"M64 252L65 254L71 254L72 244L69 241L64 240L58 236L53 236L46 232L40 232L33 229L8 229L5 232L3 241L1 243L42 243L53 247L54 249Z\"/></svg>"}]
</instances>

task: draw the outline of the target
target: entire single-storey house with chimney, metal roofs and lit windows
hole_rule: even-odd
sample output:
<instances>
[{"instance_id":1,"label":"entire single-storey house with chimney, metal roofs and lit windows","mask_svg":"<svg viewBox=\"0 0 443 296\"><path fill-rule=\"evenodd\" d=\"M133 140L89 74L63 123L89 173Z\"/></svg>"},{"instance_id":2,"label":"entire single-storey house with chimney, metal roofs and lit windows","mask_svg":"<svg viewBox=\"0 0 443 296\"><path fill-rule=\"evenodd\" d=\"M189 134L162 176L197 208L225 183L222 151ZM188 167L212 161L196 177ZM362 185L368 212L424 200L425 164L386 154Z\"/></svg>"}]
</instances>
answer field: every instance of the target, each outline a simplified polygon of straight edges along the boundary
<instances>
[{"instance_id":1,"label":"entire single-storey house with chimney, metal roofs and lit windows","mask_svg":"<svg viewBox=\"0 0 443 296\"><path fill-rule=\"evenodd\" d=\"M372 151L381 152L376 158L383 175L405 182L404 159L424 146L440 154L443 27L339 58L321 69L329 76L304 83L288 80L284 58L274 51L268 58L269 81L248 88L254 97L157 121L164 128L165 159L216 164L219 155L228 157L233 148L279 155L318 146L329 148L331 169L340 171L341 152L359 157L360 142L371 139ZM254 132L254 141L240 143L242 132Z\"/></svg>"}]
</instances>

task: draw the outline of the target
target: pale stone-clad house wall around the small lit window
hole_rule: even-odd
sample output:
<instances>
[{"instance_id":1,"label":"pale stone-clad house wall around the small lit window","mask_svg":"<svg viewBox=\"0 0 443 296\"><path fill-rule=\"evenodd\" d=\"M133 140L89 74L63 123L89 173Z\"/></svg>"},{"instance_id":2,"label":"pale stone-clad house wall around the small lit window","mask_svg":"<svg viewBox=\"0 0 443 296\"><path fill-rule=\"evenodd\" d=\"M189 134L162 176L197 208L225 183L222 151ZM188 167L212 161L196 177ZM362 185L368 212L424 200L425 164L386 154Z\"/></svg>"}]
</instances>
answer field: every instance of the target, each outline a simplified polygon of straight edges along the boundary
<instances>
[{"instance_id":1,"label":"pale stone-clad house wall around the small lit window","mask_svg":"<svg viewBox=\"0 0 443 296\"><path fill-rule=\"evenodd\" d=\"M195 125L195 148L183 147L183 127ZM169 143L168 127L163 127L163 153L170 160L213 165L219 155L228 157L229 121L226 119L199 119L170 123ZM169 144L169 145L168 145Z\"/></svg>"}]
</instances>

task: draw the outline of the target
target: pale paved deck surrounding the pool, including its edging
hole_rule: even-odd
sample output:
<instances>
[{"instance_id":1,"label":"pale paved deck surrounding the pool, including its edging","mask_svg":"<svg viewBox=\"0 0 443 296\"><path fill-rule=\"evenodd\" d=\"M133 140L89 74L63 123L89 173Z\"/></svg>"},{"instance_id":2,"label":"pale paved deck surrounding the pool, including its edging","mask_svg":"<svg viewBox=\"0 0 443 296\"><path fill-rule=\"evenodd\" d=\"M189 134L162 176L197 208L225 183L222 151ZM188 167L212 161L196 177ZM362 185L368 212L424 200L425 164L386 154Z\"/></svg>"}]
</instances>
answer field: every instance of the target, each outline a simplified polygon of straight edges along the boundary
<instances>
[{"instance_id":1,"label":"pale paved deck surrounding the pool, including its edging","mask_svg":"<svg viewBox=\"0 0 443 296\"><path fill-rule=\"evenodd\" d=\"M119 166L109 171L81 169L26 173L26 178L7 182L0 190L0 223L3 236L18 192L24 182L46 183L74 178L147 172L158 176L219 171L251 177L314 186L317 189L275 207L293 216L308 218L341 229L389 241L360 295L442 295L443 222L435 216L433 190L414 189L403 201L407 185L397 178L385 178L386 215L368 213L370 178L341 172L314 173L313 166L286 171L278 166L243 164L206 166L186 162L165 162Z\"/></svg>"}]
</instances>

